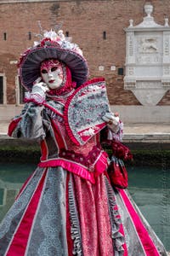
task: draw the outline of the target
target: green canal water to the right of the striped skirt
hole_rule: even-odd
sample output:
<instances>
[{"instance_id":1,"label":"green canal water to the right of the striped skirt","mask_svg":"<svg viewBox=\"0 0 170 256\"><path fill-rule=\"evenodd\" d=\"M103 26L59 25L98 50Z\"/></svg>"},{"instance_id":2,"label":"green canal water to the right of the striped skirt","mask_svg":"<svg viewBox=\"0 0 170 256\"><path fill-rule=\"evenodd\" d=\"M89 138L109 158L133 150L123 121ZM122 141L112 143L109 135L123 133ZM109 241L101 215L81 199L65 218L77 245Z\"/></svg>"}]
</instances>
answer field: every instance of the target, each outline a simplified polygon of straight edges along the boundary
<instances>
[{"instance_id":1,"label":"green canal water to the right of the striped skirt","mask_svg":"<svg viewBox=\"0 0 170 256\"><path fill-rule=\"evenodd\" d=\"M133 200L170 251L170 170L135 166L128 168L128 177Z\"/></svg>"}]
</instances>

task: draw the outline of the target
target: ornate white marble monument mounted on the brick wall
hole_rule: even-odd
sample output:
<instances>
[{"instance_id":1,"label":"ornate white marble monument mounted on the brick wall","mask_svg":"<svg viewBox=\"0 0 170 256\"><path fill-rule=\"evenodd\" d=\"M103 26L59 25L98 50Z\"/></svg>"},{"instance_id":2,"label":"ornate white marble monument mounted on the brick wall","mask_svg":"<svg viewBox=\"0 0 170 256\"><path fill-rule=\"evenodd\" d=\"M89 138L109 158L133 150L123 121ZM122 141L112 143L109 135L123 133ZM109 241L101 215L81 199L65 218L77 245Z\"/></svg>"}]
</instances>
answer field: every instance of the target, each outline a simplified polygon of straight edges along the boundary
<instances>
[{"instance_id":1,"label":"ornate white marble monument mounted on the brick wall","mask_svg":"<svg viewBox=\"0 0 170 256\"><path fill-rule=\"evenodd\" d=\"M132 90L144 106L156 106L170 89L170 27L157 24L153 6L144 5L146 16L137 26L125 29L127 38L124 89Z\"/></svg>"}]
</instances>

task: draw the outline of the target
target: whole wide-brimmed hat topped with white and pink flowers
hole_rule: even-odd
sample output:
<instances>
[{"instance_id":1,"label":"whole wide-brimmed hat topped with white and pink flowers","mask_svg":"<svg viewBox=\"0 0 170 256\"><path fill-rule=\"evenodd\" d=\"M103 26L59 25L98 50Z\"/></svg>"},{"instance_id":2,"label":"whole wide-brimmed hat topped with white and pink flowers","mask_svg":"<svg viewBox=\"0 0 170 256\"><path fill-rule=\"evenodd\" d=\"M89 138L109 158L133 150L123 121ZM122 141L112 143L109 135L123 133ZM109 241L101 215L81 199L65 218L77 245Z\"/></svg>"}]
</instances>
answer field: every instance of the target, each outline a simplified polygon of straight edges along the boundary
<instances>
[{"instance_id":1,"label":"whole wide-brimmed hat topped with white and pink flowers","mask_svg":"<svg viewBox=\"0 0 170 256\"><path fill-rule=\"evenodd\" d=\"M65 38L63 32L44 32L40 42L27 49L20 57L18 64L21 84L29 91L33 82L41 76L42 61L58 59L63 61L70 69L72 80L80 86L88 79L88 63L82 55L77 44Z\"/></svg>"}]
</instances>

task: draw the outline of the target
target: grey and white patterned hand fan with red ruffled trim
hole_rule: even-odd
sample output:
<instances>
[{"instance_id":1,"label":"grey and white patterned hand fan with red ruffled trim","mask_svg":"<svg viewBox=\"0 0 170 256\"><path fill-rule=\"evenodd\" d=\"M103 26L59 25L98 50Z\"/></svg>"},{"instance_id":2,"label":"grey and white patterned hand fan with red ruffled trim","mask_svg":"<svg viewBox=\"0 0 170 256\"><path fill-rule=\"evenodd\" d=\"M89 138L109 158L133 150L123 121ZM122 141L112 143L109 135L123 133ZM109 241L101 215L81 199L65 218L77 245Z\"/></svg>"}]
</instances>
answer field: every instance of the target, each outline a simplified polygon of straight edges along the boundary
<instances>
[{"instance_id":1,"label":"grey and white patterned hand fan with red ruffled trim","mask_svg":"<svg viewBox=\"0 0 170 256\"><path fill-rule=\"evenodd\" d=\"M105 79L82 84L65 104L65 125L69 137L83 145L106 125L102 117L109 112Z\"/></svg>"}]
</instances>

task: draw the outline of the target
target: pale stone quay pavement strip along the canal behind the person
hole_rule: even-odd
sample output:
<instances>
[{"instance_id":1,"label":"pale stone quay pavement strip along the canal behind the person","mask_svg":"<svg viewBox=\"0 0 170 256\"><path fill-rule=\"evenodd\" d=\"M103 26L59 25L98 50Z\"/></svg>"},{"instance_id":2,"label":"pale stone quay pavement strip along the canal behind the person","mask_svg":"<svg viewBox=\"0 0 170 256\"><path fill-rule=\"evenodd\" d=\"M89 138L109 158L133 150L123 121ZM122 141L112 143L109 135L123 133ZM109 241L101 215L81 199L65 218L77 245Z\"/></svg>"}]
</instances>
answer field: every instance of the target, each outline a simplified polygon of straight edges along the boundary
<instances>
[{"instance_id":1,"label":"pale stone quay pavement strip along the canal behind the person","mask_svg":"<svg viewBox=\"0 0 170 256\"><path fill-rule=\"evenodd\" d=\"M0 121L0 138L7 138L7 121ZM123 142L170 143L170 122L164 124L124 124Z\"/></svg>"}]
</instances>

